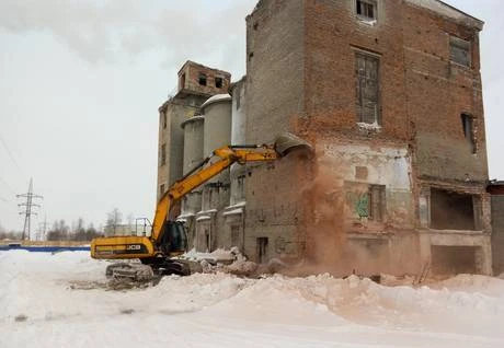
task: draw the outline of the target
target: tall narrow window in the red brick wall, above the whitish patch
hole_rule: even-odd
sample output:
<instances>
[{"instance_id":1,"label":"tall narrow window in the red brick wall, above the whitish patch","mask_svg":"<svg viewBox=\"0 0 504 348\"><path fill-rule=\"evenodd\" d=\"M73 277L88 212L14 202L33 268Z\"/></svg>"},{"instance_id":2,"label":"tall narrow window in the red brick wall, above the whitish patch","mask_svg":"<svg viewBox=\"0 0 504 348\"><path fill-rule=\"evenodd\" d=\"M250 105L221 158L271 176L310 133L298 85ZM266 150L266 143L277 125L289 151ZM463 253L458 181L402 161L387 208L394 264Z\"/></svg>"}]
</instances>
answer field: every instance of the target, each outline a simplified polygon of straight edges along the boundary
<instances>
[{"instance_id":1,"label":"tall narrow window in the red brick wall, above the whitish patch","mask_svg":"<svg viewBox=\"0 0 504 348\"><path fill-rule=\"evenodd\" d=\"M381 124L378 68L378 57L362 53L356 54L356 106L359 123Z\"/></svg>"}]
</instances>

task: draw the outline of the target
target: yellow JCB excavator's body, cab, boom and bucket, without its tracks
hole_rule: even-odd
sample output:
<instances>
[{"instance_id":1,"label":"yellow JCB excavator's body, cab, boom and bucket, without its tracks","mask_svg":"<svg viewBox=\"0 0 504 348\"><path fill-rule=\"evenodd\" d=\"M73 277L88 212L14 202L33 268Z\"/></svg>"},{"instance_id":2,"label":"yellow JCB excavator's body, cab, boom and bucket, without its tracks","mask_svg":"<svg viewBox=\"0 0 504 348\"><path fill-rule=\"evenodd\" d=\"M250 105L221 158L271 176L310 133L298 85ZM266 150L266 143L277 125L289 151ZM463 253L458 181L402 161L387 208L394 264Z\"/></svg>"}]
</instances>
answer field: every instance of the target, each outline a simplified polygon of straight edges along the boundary
<instances>
[{"instance_id":1,"label":"yellow JCB excavator's body, cab, boom and bucket, without its tracks","mask_svg":"<svg viewBox=\"0 0 504 348\"><path fill-rule=\"evenodd\" d=\"M302 139L284 135L278 137L273 146L227 146L215 150L210 156L163 194L157 205L150 236L94 239L91 242L91 256L102 259L139 258L145 264L157 264L159 256L169 258L182 254L186 248L183 227L168 220L170 210L176 201L233 163L272 162L300 147L311 150Z\"/></svg>"}]
</instances>

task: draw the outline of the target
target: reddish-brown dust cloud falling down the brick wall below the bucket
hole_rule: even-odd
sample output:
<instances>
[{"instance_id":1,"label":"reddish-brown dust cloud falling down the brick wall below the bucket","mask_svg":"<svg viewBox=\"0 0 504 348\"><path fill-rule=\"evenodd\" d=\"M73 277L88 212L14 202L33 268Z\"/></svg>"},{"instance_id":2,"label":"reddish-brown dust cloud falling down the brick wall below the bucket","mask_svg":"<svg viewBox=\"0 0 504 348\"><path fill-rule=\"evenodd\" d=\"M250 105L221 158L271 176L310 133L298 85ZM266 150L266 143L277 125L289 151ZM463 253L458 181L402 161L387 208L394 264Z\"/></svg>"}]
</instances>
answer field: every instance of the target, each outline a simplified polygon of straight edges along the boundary
<instances>
[{"instance_id":1,"label":"reddish-brown dust cloud falling down the brick wall below the bucket","mask_svg":"<svg viewBox=\"0 0 504 348\"><path fill-rule=\"evenodd\" d=\"M348 240L346 231L365 225L347 202L344 177L348 166L324 153L316 153L308 165L311 165L311 174L303 178L301 188L303 222L298 227L298 234L306 241L305 257L282 272L289 276L329 272L343 277L392 271L388 244L369 245ZM367 185L353 187L352 192L365 194Z\"/></svg>"}]
</instances>

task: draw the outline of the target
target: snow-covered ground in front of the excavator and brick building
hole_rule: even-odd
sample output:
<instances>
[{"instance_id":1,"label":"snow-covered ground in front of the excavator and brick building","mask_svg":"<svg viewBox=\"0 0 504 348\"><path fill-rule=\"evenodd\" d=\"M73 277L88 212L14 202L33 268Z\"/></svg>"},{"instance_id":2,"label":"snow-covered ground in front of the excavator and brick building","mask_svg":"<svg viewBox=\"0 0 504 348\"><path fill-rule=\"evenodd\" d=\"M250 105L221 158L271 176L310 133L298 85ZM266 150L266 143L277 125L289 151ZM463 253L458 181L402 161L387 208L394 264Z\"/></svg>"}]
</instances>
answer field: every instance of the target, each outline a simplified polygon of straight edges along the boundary
<instances>
[{"instance_id":1,"label":"snow-covered ground in front of the excavator and brick building","mask_svg":"<svg viewBox=\"0 0 504 348\"><path fill-rule=\"evenodd\" d=\"M226 274L101 287L84 252L0 252L0 347L504 347L504 280Z\"/></svg>"}]
</instances>

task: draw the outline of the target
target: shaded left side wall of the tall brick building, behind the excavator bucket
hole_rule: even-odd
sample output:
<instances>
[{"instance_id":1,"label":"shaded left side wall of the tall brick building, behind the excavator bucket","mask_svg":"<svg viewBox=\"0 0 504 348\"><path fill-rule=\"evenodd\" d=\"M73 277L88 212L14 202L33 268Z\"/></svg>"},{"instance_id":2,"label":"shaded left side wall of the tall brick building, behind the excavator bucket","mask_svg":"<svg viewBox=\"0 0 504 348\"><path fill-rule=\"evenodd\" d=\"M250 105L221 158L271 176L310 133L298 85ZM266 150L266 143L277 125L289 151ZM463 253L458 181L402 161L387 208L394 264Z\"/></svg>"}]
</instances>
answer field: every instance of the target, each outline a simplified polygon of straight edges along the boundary
<instances>
[{"instance_id":1,"label":"shaded left side wall of the tall brick building, behind the excavator bucket","mask_svg":"<svg viewBox=\"0 0 504 348\"><path fill-rule=\"evenodd\" d=\"M247 18L248 143L271 143L279 132L293 131L293 120L302 117L302 1L261 1ZM248 166L244 252L253 260L301 256L299 165L286 158ZM261 240L265 237L267 246Z\"/></svg>"}]
</instances>

